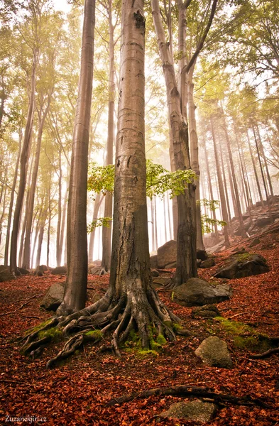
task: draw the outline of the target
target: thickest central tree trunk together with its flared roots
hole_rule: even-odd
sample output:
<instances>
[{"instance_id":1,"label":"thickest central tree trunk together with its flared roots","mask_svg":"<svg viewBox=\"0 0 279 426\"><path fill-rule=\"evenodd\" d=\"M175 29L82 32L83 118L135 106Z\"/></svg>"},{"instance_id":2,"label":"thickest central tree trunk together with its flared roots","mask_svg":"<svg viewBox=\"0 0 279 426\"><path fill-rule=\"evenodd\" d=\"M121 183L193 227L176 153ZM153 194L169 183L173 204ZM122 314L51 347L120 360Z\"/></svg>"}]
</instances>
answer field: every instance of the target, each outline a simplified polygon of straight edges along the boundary
<instances>
[{"instance_id":1,"label":"thickest central tree trunk together with its flared roots","mask_svg":"<svg viewBox=\"0 0 279 426\"><path fill-rule=\"evenodd\" d=\"M53 319L52 324L62 327L65 334L76 329L79 332L47 367L80 347L89 327L99 327L102 334L112 330L111 349L119 356L119 343L128 339L132 329L138 331L143 349L152 348L154 334L175 339L173 322L179 319L160 301L151 285L144 143L144 34L143 0L124 0L109 289L93 305ZM31 341L32 338L28 339L26 345Z\"/></svg>"}]
</instances>

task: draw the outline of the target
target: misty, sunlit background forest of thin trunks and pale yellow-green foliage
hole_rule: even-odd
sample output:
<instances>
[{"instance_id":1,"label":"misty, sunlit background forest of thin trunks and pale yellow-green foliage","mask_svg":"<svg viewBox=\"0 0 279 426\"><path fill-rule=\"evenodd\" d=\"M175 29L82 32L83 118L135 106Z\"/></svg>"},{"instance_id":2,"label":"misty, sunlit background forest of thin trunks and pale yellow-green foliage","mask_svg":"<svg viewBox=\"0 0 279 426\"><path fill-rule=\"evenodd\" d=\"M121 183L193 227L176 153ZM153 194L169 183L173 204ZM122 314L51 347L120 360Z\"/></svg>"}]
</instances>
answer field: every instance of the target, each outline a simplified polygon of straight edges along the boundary
<instances>
[{"instance_id":1,"label":"misty, sunlit background forest of thin trunks and pale yellow-green foliage","mask_svg":"<svg viewBox=\"0 0 279 426\"><path fill-rule=\"evenodd\" d=\"M216 1L214 17L212 2L192 0L187 6L183 58L177 41L179 3L160 1L160 16L177 79L183 63L187 67L191 160L197 155L197 141L199 152L198 162L192 160L191 165L199 176L196 198L204 243L197 241L197 247L202 249L203 244L214 246L220 239L229 244L234 217L239 220L235 233L247 236L241 214L251 214L256 203L268 214L279 192L278 0ZM67 14L48 0L1 1L0 5L0 263L10 264L10 253L15 251L12 231L18 226L18 266L60 266L66 259L83 5L74 2ZM104 182L109 187L113 175L111 168L99 166L114 163L120 31L121 2L97 1L87 201L89 262L102 259L102 245L107 241L110 245L111 190L106 191ZM165 169L148 163L152 180L168 175L167 170L174 172L175 164L149 3L145 102L146 157ZM27 151L26 138L31 141ZM26 187L21 210L16 212L23 168ZM160 182L157 192L150 191L148 197L150 252L176 239L177 233L175 182L171 189Z\"/></svg>"}]
</instances>

